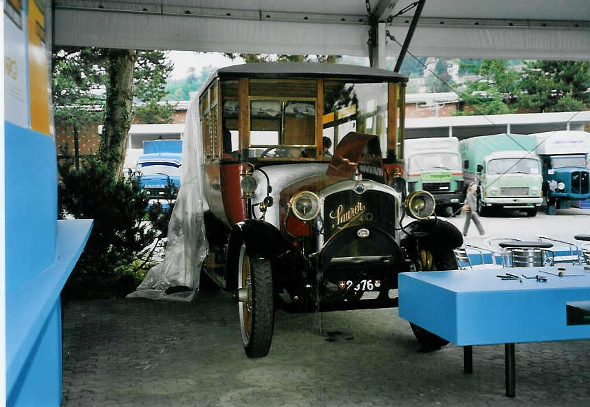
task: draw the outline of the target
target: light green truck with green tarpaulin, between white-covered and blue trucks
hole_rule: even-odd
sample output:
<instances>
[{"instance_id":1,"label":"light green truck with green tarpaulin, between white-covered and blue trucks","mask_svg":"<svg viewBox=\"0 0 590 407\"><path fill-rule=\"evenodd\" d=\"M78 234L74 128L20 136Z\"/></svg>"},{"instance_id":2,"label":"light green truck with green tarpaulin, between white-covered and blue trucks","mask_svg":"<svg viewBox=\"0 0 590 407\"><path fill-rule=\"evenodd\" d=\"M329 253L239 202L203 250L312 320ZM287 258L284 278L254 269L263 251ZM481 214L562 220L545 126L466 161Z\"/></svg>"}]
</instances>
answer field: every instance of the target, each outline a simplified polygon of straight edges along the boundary
<instances>
[{"instance_id":1,"label":"light green truck with green tarpaulin, between white-covered and blue trucks","mask_svg":"<svg viewBox=\"0 0 590 407\"><path fill-rule=\"evenodd\" d=\"M534 137L518 134L483 135L459 142L466 184L478 186L481 216L494 208L536 215L543 202L543 177L534 148Z\"/></svg>"}]
</instances>

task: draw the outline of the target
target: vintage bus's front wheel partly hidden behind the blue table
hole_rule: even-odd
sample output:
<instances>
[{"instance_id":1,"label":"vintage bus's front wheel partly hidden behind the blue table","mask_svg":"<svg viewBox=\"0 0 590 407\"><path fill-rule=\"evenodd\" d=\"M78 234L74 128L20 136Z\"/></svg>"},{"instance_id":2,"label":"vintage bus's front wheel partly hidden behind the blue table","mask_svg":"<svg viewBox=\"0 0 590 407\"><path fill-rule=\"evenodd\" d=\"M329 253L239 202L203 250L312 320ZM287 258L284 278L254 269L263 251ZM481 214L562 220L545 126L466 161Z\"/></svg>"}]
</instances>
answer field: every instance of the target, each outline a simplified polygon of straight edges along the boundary
<instances>
[{"instance_id":1,"label":"vintage bus's front wheel partly hidden behind the blue table","mask_svg":"<svg viewBox=\"0 0 590 407\"><path fill-rule=\"evenodd\" d=\"M452 250L439 252L433 255L430 250L422 249L419 251L418 257L417 266L420 269L418 271L421 272L455 270L457 268L457 261L455 260L455 254L453 254ZM448 344L448 340L441 338L430 331L426 331L426 329L419 327L412 322L410 322L410 327L417 341L422 345L422 349L426 351L433 351Z\"/></svg>"}]
</instances>

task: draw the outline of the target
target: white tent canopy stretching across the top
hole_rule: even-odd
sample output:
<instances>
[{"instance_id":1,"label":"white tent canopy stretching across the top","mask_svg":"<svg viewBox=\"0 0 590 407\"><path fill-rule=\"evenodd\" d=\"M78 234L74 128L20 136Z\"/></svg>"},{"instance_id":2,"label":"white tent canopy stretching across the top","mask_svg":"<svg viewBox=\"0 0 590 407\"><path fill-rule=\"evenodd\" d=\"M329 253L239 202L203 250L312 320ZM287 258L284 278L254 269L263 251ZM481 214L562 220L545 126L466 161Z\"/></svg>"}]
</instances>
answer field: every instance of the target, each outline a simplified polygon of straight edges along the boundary
<instances>
[{"instance_id":1,"label":"white tent canopy stretching across the top","mask_svg":"<svg viewBox=\"0 0 590 407\"><path fill-rule=\"evenodd\" d=\"M397 56L416 9L391 16L411 3L55 0L54 43L367 56L372 25L379 27L381 53ZM590 60L590 7L588 0L426 0L409 50L417 56Z\"/></svg>"}]
</instances>

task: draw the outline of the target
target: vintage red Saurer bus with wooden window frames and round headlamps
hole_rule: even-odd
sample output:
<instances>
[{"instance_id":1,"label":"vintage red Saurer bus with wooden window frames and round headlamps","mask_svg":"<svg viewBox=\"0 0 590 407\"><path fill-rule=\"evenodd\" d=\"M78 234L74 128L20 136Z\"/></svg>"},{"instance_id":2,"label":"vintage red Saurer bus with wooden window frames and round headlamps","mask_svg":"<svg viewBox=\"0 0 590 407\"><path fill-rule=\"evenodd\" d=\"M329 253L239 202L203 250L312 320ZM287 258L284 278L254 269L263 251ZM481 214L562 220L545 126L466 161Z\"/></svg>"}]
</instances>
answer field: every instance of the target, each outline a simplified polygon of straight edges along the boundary
<instances>
[{"instance_id":1,"label":"vintage red Saurer bus with wooden window frames and round headlamps","mask_svg":"<svg viewBox=\"0 0 590 407\"><path fill-rule=\"evenodd\" d=\"M277 307L396 307L398 273L457 268L461 233L400 177L406 82L369 67L255 63L218 69L200 92L202 270L234 294L250 358L267 355ZM424 347L447 343L412 329Z\"/></svg>"}]
</instances>

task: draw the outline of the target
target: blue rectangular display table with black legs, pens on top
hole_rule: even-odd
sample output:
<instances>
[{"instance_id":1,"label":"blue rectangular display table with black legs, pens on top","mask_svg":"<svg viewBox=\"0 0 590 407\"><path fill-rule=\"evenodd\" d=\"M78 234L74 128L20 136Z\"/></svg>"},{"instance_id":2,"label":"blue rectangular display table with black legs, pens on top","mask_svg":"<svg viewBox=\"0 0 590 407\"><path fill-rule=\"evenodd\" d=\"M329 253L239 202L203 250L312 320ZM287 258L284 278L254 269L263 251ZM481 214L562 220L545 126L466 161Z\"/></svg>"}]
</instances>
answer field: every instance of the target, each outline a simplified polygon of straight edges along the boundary
<instances>
[{"instance_id":1,"label":"blue rectangular display table with black legs, pens on top","mask_svg":"<svg viewBox=\"0 0 590 407\"><path fill-rule=\"evenodd\" d=\"M502 280L495 270L402 273L400 316L466 347L505 344L506 395L514 397L514 343L590 338L590 272L582 266L512 268L547 278Z\"/></svg>"}]
</instances>

